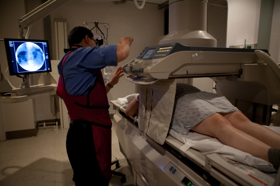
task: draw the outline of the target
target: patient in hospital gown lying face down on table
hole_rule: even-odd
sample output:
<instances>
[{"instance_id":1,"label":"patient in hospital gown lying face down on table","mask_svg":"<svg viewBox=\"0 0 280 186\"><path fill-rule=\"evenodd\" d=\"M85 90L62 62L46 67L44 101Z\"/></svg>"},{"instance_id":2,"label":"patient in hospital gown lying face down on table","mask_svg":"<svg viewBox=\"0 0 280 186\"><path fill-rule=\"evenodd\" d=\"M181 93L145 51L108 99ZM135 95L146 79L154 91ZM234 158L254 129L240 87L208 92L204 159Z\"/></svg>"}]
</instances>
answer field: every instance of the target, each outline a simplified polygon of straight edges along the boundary
<instances>
[{"instance_id":1,"label":"patient in hospital gown lying face down on table","mask_svg":"<svg viewBox=\"0 0 280 186\"><path fill-rule=\"evenodd\" d=\"M139 95L126 108L137 114ZM170 126L176 132L190 130L219 139L225 145L280 165L280 134L250 121L225 97L202 92L194 86L177 83Z\"/></svg>"}]
</instances>

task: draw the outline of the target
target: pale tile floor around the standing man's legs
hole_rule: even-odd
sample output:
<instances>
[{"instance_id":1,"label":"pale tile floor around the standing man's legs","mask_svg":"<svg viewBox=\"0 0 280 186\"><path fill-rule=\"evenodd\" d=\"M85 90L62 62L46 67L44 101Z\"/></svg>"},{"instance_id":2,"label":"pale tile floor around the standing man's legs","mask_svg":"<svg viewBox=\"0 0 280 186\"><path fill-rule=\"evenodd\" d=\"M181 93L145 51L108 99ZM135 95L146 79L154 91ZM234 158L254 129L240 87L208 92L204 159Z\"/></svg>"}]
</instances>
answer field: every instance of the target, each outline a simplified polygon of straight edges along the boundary
<instances>
[{"instance_id":1,"label":"pale tile floor around the standing man's legs","mask_svg":"<svg viewBox=\"0 0 280 186\"><path fill-rule=\"evenodd\" d=\"M36 137L0 142L0 186L75 186L65 147L67 131L39 129ZM112 170L126 174L126 183L113 175L110 186L133 186L132 170L112 127L112 161L114 157L121 167L112 165Z\"/></svg>"}]
</instances>

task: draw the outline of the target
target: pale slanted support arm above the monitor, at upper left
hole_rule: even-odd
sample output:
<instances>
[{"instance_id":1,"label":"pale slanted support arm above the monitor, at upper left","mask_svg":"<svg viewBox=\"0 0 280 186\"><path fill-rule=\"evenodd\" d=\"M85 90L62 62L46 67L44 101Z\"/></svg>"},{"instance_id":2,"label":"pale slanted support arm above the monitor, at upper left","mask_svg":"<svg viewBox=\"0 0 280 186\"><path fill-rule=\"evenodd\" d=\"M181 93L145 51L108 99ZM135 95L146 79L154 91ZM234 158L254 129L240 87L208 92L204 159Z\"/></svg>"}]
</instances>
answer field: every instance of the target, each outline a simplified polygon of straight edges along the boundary
<instances>
[{"instance_id":1,"label":"pale slanted support arm above the monitor, at upper left","mask_svg":"<svg viewBox=\"0 0 280 186\"><path fill-rule=\"evenodd\" d=\"M68 3L71 0L48 0L47 2L43 3L42 5L38 6L22 18L18 19L19 22L19 39L27 39L30 33L30 28L33 23L36 21L50 15L53 11L57 8L63 6L64 4ZM28 32L26 37L24 36L23 29L27 29Z\"/></svg>"}]
</instances>

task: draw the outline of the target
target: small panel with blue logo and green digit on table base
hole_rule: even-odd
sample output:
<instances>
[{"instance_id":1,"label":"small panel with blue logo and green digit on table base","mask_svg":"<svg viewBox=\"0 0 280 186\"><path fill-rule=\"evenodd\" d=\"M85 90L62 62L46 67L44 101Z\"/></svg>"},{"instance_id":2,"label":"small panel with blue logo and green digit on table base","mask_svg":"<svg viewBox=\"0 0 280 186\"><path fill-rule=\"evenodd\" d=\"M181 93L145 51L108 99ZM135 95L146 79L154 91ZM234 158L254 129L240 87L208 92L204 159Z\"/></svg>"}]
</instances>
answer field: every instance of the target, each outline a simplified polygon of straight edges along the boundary
<instances>
[{"instance_id":1,"label":"small panel with blue logo and green digit on table base","mask_svg":"<svg viewBox=\"0 0 280 186\"><path fill-rule=\"evenodd\" d=\"M168 172L177 182L181 183L182 186L196 186L196 184L173 163L169 162L164 170Z\"/></svg>"}]
</instances>

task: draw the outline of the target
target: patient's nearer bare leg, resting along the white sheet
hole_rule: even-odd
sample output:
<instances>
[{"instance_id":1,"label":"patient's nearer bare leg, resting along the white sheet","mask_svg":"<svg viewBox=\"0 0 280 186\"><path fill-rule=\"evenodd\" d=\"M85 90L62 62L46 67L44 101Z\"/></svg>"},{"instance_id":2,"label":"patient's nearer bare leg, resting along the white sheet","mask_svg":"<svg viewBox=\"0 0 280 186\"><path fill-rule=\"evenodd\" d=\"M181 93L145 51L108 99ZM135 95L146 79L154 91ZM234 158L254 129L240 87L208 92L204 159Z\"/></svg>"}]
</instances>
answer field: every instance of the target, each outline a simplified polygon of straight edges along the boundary
<instances>
[{"instance_id":1,"label":"patient's nearer bare leg, resting along the white sheet","mask_svg":"<svg viewBox=\"0 0 280 186\"><path fill-rule=\"evenodd\" d=\"M225 145L268 161L267 153L268 149L271 148L269 145L233 127L224 116L218 113L202 120L192 130L213 136Z\"/></svg>"}]
</instances>

